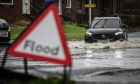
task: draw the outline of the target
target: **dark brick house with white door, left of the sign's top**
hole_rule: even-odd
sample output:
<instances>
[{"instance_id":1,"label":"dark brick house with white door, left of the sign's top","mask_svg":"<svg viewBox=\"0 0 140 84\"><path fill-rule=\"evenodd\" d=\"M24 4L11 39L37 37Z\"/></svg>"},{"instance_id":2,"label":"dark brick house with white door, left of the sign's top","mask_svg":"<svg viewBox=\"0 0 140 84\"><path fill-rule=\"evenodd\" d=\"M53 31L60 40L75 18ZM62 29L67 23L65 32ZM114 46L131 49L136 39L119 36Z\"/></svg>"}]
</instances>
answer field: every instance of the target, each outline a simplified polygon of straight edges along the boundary
<instances>
[{"instance_id":1,"label":"dark brick house with white door, left of the sign's top","mask_svg":"<svg viewBox=\"0 0 140 84\"><path fill-rule=\"evenodd\" d=\"M23 15L36 15L43 7L38 1L41 0L0 0L0 18L13 23ZM40 9L36 10L34 6Z\"/></svg>"}]
</instances>

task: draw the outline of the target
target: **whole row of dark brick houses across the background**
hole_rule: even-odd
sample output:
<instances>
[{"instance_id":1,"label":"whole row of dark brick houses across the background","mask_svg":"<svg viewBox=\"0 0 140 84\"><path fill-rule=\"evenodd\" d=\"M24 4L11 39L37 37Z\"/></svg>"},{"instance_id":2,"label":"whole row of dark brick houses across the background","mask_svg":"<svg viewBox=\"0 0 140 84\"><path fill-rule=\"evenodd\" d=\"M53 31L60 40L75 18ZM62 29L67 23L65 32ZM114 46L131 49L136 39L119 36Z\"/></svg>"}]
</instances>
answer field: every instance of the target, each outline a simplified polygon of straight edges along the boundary
<instances>
[{"instance_id":1,"label":"whole row of dark brick houses across the background","mask_svg":"<svg viewBox=\"0 0 140 84\"><path fill-rule=\"evenodd\" d=\"M55 0L59 14L69 21L87 24L89 9L84 7L89 0ZM96 4L92 8L92 18L96 16L110 16L121 13L125 3L137 4L139 0L91 0ZM137 3L135 3L137 2ZM0 0L0 18L9 22L16 21L22 15L36 16L45 8L44 0Z\"/></svg>"}]
</instances>

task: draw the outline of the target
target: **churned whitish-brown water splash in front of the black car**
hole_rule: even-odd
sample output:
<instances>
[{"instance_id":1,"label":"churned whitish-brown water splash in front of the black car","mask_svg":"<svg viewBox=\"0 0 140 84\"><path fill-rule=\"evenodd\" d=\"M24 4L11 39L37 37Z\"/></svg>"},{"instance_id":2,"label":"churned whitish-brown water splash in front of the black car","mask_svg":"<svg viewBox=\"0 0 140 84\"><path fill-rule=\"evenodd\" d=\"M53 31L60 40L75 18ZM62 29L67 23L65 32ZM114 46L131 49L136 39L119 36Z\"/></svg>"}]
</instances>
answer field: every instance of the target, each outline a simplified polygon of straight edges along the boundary
<instances>
[{"instance_id":1,"label":"churned whitish-brown water splash in front of the black car","mask_svg":"<svg viewBox=\"0 0 140 84\"><path fill-rule=\"evenodd\" d=\"M84 41L69 41L69 48L97 48L97 49L116 49L116 48L140 48L140 43L129 41L85 43Z\"/></svg>"}]
</instances>

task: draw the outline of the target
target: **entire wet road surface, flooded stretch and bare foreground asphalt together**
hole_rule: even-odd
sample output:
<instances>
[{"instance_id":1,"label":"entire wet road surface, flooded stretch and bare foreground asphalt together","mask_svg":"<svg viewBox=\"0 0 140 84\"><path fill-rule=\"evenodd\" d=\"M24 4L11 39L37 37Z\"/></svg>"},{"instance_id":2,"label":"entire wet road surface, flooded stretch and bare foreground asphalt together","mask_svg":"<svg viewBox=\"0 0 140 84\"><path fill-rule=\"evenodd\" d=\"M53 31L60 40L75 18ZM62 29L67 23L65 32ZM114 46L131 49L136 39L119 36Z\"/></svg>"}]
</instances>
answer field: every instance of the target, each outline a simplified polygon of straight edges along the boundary
<instances>
[{"instance_id":1,"label":"entire wet road surface, flooded stretch and bare foreground asphalt together","mask_svg":"<svg viewBox=\"0 0 140 84\"><path fill-rule=\"evenodd\" d=\"M69 41L73 61L71 79L78 81L78 84L140 83L140 32L130 33L128 37L128 42L86 44L84 41ZM1 60L6 48L6 45L0 46ZM16 72L24 72L23 58L8 56L5 66ZM44 78L63 74L62 65L48 62L29 59L28 68L30 74Z\"/></svg>"}]
</instances>

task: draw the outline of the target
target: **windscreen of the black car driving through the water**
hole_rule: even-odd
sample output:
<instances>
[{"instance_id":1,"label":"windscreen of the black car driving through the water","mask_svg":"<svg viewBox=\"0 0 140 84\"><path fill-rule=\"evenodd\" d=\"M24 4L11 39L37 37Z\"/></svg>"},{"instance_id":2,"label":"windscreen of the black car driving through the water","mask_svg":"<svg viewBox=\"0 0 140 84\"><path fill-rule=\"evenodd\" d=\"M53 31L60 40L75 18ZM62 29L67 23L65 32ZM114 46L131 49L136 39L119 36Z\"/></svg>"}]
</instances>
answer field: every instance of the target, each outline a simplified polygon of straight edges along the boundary
<instances>
[{"instance_id":1,"label":"windscreen of the black car driving through the water","mask_svg":"<svg viewBox=\"0 0 140 84\"><path fill-rule=\"evenodd\" d=\"M117 19L94 20L91 28L120 28L120 21Z\"/></svg>"}]
</instances>

